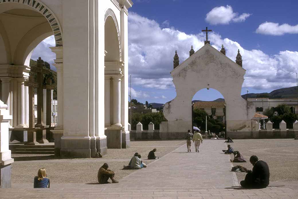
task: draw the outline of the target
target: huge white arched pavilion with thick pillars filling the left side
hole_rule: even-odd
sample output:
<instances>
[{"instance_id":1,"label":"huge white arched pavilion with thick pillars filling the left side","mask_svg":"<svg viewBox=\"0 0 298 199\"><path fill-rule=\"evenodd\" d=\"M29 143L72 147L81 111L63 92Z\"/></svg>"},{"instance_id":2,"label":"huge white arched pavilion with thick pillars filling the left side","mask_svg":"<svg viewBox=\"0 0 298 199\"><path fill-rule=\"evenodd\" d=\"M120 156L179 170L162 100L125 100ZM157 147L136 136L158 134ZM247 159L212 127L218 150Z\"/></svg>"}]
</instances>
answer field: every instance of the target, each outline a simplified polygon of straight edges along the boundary
<instances>
[{"instance_id":1,"label":"huge white arched pavilion with thick pillars filling the left side","mask_svg":"<svg viewBox=\"0 0 298 199\"><path fill-rule=\"evenodd\" d=\"M0 79L12 126L27 126L29 61L34 48L55 36L61 155L106 153L105 111L128 131L128 8L131 0L0 0ZM105 104L105 74L111 106ZM115 73L117 71L117 73ZM108 82L106 82L108 83Z\"/></svg>"}]
</instances>

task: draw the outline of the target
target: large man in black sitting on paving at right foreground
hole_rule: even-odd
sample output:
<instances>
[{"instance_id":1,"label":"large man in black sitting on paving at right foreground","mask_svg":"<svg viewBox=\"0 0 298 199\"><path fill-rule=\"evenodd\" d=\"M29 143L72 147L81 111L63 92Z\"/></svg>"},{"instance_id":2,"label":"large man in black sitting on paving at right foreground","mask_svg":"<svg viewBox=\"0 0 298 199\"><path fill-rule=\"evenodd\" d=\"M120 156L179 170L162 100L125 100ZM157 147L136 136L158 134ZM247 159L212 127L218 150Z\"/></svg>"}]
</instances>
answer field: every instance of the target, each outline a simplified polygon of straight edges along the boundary
<instances>
[{"instance_id":1,"label":"large man in black sitting on paving at right foreground","mask_svg":"<svg viewBox=\"0 0 298 199\"><path fill-rule=\"evenodd\" d=\"M249 159L250 163L254 166L252 171L247 171L245 180L240 182L242 187L245 188L265 188L269 185L269 167L266 162L259 160L257 156L253 155Z\"/></svg>"}]
</instances>

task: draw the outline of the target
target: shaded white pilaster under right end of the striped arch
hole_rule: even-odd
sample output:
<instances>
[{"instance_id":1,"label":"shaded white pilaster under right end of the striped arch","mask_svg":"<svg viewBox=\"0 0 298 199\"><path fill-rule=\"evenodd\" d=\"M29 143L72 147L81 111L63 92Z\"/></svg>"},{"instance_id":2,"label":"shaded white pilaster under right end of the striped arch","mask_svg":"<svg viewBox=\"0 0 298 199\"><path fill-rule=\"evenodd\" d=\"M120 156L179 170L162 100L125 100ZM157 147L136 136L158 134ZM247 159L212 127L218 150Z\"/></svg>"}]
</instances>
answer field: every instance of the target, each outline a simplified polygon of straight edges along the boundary
<instances>
[{"instance_id":1,"label":"shaded white pilaster under right end of the striped arch","mask_svg":"<svg viewBox=\"0 0 298 199\"><path fill-rule=\"evenodd\" d=\"M55 64L57 69L57 107L58 107L58 123L55 130L63 129L63 100L64 100L64 80L63 80L63 47L50 47L52 52L56 53Z\"/></svg>"}]
</instances>

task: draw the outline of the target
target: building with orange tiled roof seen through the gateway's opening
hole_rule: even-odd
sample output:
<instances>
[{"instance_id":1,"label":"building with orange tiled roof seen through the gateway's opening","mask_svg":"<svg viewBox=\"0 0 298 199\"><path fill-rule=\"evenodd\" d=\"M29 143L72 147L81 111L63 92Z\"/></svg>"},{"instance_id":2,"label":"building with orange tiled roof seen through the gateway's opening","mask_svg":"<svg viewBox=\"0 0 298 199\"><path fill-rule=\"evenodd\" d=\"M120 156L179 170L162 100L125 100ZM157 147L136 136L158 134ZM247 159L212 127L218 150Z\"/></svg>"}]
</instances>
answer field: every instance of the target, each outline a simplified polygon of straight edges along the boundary
<instances>
[{"instance_id":1,"label":"building with orange tiled roof seen through the gateway's opening","mask_svg":"<svg viewBox=\"0 0 298 199\"><path fill-rule=\"evenodd\" d=\"M214 119L218 119L221 122L225 121L226 106L225 102L215 101L201 101L194 102L193 108L199 108L207 112L208 115L212 115Z\"/></svg>"}]
</instances>

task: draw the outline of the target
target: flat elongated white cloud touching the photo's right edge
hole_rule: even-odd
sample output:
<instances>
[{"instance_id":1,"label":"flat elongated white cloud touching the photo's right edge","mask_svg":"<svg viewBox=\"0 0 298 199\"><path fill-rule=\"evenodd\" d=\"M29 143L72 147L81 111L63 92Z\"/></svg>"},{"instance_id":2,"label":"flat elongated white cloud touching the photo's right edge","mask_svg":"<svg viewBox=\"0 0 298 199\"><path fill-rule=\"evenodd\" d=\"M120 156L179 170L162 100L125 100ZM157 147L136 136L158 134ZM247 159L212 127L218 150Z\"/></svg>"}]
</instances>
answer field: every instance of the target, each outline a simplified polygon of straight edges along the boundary
<instances>
[{"instance_id":1,"label":"flat elongated white cloud touching the photo's right edge","mask_svg":"<svg viewBox=\"0 0 298 199\"><path fill-rule=\"evenodd\" d=\"M295 26L289 24L273 23L273 22L265 22L259 25L256 30L256 33L264 34L264 35L275 35L280 36L286 33L288 34L297 34L298 33L298 24Z\"/></svg>"}]
</instances>

